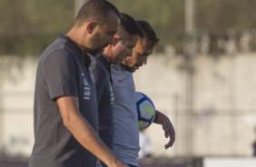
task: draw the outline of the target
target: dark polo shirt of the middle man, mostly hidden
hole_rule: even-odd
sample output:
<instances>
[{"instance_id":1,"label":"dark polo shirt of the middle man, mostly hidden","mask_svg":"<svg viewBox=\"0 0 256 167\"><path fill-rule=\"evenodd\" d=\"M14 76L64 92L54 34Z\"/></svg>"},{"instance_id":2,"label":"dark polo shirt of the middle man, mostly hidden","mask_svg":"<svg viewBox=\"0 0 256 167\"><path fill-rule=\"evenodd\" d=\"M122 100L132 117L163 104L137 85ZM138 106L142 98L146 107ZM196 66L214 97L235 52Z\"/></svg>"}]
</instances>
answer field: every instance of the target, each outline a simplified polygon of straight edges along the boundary
<instances>
[{"instance_id":1,"label":"dark polo shirt of the middle man, mostly hidden","mask_svg":"<svg viewBox=\"0 0 256 167\"><path fill-rule=\"evenodd\" d=\"M99 136L113 148L113 88L111 67L104 55L91 57L90 68L94 74L99 112Z\"/></svg>"}]
</instances>

